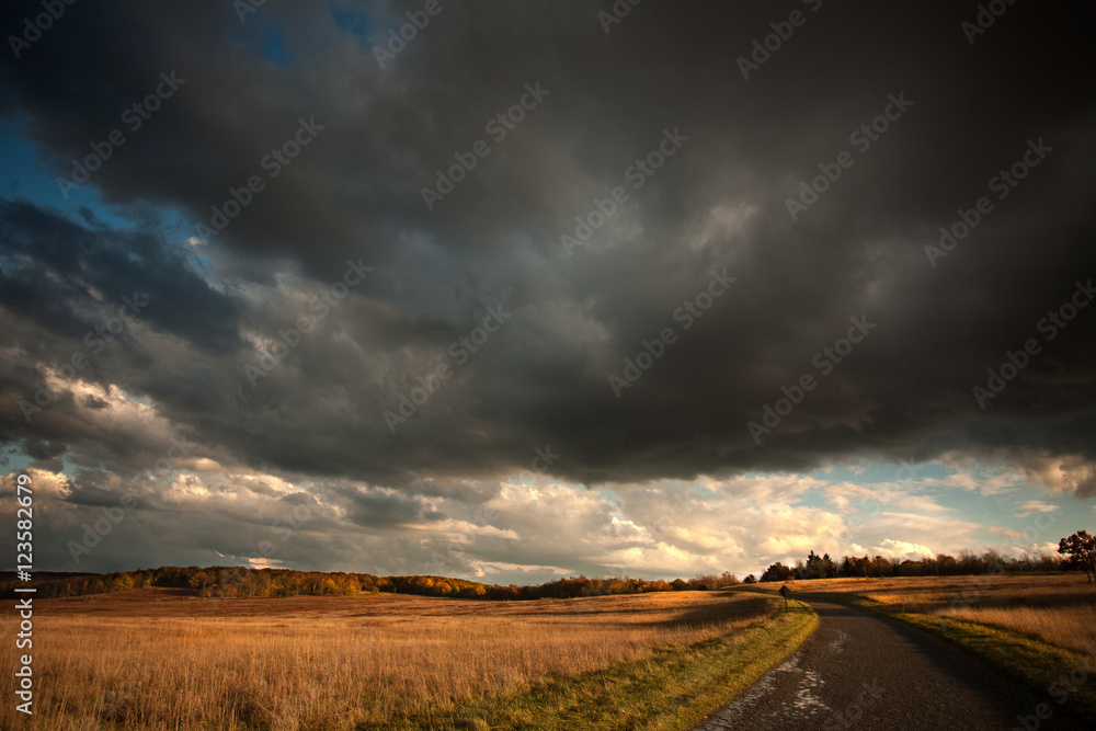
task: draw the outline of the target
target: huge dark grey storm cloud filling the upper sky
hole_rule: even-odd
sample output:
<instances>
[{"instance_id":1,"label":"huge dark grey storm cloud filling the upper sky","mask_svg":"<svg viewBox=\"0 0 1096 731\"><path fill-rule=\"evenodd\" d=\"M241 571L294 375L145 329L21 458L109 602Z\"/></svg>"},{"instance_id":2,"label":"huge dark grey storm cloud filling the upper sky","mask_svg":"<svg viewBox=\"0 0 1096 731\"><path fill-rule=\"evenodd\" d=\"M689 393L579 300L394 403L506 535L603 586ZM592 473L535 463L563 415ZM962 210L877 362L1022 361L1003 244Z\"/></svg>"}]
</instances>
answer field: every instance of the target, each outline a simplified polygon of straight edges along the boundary
<instances>
[{"instance_id":1,"label":"huge dark grey storm cloud filling the upper sky","mask_svg":"<svg viewBox=\"0 0 1096 731\"><path fill-rule=\"evenodd\" d=\"M155 289L150 327L195 347L158 343L142 368L112 354L103 378L150 398L198 455L408 489L523 469L551 445L553 473L587 482L959 453L1069 456L1082 477L1064 487L1092 491L1096 308L1053 340L1038 328L1096 276L1091 7L1009 5L971 44L970 3L649 1L607 34L607 2L445 3L381 69L372 46L412 5L266 3L241 23L227 2L81 3L22 58L0 55L4 108L62 176L161 72L185 79L88 183L107 203L171 207L190 232L230 189L264 183L209 237L202 273L162 240L4 203L8 255L61 275L5 279L24 320L11 336L81 335L76 272L111 301ZM14 3L4 26L35 8ZM363 15L367 42L333 10ZM739 58L792 10L802 24L744 79ZM486 125L525 84L547 94L495 139ZM892 95L912 102L897 117ZM887 132L850 138L888 108ZM265 156L313 118L271 176ZM633 187L664 130L687 141ZM427 209L422 189L478 140L490 152ZM990 180L1029 140L1051 150L996 197ZM852 167L792 220L786 199L842 151ZM560 236L616 186L628 199L564 256ZM993 210L934 266L924 247L982 196ZM252 388L255 339L315 313L359 258L372 275ZM724 269L737 281L686 330L673 313ZM512 319L456 363L450 345L500 306ZM877 327L823 376L815 354L863 317ZM608 377L665 328L675 342L616 398ZM979 408L972 388L1030 338L1041 352ZM390 432L384 411L442 364L452 378ZM747 423L803 374L818 387L755 443ZM27 429L96 438L76 421ZM149 459L98 438L102 459ZM420 510L354 502L370 525Z\"/></svg>"}]
</instances>

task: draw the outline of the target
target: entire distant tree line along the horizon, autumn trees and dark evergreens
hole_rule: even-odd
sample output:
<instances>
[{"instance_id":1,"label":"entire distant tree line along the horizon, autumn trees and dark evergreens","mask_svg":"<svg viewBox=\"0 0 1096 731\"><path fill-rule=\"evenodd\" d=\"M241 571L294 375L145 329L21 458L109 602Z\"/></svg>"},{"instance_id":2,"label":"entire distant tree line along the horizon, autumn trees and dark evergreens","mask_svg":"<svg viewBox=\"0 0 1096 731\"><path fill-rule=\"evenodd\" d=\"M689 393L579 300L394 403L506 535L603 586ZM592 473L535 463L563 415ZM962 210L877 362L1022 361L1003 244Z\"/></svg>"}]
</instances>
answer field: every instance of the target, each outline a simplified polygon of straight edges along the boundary
<instances>
[{"instance_id":1,"label":"entire distant tree line along the horizon, autumn trees and dark evergreens","mask_svg":"<svg viewBox=\"0 0 1096 731\"><path fill-rule=\"evenodd\" d=\"M837 576L884 578L961 575L981 573L1027 573L1080 569L1080 564L1060 557L1040 556L1006 559L996 551L978 555L961 551L958 557L939 555L920 561L891 561L881 556L874 558L845 557L831 560L829 553L818 556L811 551L806 560L788 567L776 562L768 567L760 581L794 581L796 579L830 579ZM10 579L8 576L11 576ZM7 573L0 581L0 594L14 596L15 586L34 586L36 596L61 597L125 592L133 589L182 589L198 596L249 598L298 595L350 595L358 592L415 594L420 596L447 596L475 599L540 599L602 596L608 594L640 594L647 592L705 591L751 584L758 581L753 574L740 581L732 573L703 575L673 581L613 578L587 579L575 576L559 579L539 585L482 584L446 576L374 576L368 573L321 573L290 569L247 569L241 567L161 567L140 571L122 571L107 574L39 572L30 583L20 582Z\"/></svg>"}]
</instances>

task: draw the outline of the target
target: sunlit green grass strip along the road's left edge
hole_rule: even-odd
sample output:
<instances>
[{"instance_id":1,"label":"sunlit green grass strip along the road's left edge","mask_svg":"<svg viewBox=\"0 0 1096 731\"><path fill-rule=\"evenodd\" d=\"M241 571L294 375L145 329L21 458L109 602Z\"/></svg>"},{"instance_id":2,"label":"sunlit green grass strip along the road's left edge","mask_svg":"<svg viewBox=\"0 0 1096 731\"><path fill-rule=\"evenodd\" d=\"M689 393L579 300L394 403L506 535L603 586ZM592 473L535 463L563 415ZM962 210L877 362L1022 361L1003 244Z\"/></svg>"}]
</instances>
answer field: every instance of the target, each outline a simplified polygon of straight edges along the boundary
<instances>
[{"instance_id":1,"label":"sunlit green grass strip along the road's left edge","mask_svg":"<svg viewBox=\"0 0 1096 731\"><path fill-rule=\"evenodd\" d=\"M783 604L783 602L781 602ZM526 692L454 710L390 719L385 729L536 729L681 731L730 703L795 652L818 628L818 615L801 602L755 627L648 660L572 677L550 677Z\"/></svg>"}]
</instances>

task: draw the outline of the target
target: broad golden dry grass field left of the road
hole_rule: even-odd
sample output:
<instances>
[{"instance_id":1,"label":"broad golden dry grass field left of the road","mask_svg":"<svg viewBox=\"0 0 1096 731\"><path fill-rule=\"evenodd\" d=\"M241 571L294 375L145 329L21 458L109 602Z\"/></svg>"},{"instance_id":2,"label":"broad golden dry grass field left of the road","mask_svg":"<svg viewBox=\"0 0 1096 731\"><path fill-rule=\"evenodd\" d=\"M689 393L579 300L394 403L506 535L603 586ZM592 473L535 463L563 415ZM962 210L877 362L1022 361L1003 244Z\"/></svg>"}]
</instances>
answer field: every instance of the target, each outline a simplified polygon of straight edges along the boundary
<instances>
[{"instance_id":1,"label":"broad golden dry grass field left of the road","mask_svg":"<svg viewBox=\"0 0 1096 731\"><path fill-rule=\"evenodd\" d=\"M38 601L34 728L350 729L723 636L772 606L721 592ZM12 636L14 619L3 630ZM0 655L0 673L14 670L15 653ZM4 704L0 727L16 716Z\"/></svg>"}]
</instances>

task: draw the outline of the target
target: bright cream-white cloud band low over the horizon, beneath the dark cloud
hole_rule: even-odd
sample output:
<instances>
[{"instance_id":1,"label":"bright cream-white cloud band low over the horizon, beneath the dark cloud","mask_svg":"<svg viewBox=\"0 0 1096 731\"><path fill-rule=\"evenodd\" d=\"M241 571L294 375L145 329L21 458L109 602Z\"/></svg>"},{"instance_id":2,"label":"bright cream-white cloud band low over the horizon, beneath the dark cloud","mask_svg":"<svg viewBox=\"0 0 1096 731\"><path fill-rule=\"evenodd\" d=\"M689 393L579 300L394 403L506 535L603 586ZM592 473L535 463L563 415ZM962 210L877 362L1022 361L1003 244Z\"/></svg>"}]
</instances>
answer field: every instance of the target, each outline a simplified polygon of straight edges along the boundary
<instances>
[{"instance_id":1,"label":"bright cream-white cloud band low over the horizon, beneath the dark cloud","mask_svg":"<svg viewBox=\"0 0 1096 731\"><path fill-rule=\"evenodd\" d=\"M140 411L124 403L112 409ZM160 431L169 437L170 430ZM775 561L795 563L810 551L901 561L978 549L983 534L1009 539L998 546L1009 555L1050 547L1031 544L1027 532L959 517L939 495L909 486L888 491L804 476L700 477L595 490L521 475L427 481L407 491L229 468L194 456L180 469L129 481L105 476L75 482L42 468L31 475L44 516L43 559L67 570L114 570L128 552L147 557L140 566L179 563L158 557L181 555L199 564L539 583L579 573L741 576ZM138 506L127 507L111 535L75 563L70 541L79 542L127 492ZM1057 506L1028 500L1015 510L1027 517ZM132 558L123 566L136 568Z\"/></svg>"}]
</instances>

